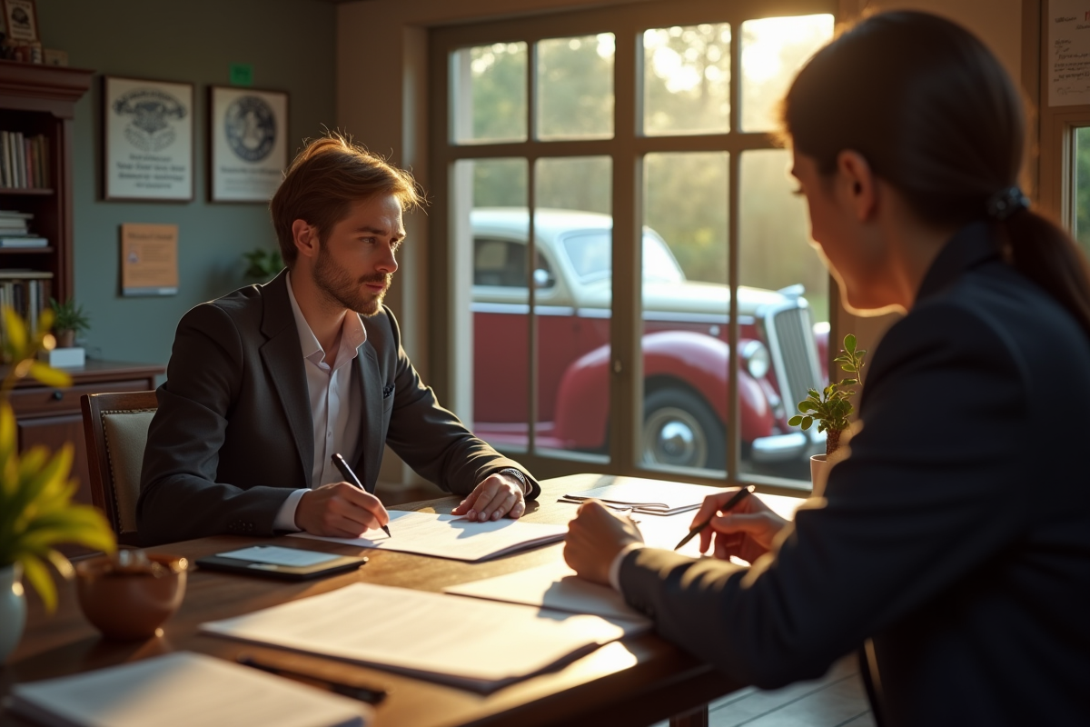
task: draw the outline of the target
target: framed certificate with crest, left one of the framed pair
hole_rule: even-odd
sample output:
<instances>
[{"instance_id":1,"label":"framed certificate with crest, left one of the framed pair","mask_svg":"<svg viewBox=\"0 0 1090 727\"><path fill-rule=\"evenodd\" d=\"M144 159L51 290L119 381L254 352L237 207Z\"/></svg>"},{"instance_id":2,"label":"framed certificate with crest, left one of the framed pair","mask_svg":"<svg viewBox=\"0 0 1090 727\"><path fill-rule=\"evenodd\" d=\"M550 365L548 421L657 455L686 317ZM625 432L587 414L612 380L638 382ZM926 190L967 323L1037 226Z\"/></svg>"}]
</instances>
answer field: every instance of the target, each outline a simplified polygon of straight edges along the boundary
<instances>
[{"instance_id":1,"label":"framed certificate with crest, left one of the framed pair","mask_svg":"<svg viewBox=\"0 0 1090 727\"><path fill-rule=\"evenodd\" d=\"M102 197L193 199L193 84L102 78Z\"/></svg>"}]
</instances>

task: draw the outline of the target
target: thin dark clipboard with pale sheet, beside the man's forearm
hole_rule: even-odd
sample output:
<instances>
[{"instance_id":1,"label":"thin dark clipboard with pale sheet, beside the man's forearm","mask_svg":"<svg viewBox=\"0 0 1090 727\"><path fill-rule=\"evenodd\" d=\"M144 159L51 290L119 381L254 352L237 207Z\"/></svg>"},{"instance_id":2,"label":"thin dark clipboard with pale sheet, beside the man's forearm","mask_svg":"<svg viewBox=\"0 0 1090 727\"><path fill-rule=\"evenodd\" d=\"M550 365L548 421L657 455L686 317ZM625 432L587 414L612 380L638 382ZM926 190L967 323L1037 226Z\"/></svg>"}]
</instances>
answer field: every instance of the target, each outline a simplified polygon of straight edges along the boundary
<instances>
[{"instance_id":1,"label":"thin dark clipboard with pale sheet, beside the man's forearm","mask_svg":"<svg viewBox=\"0 0 1090 727\"><path fill-rule=\"evenodd\" d=\"M197 566L208 570L304 581L355 570L367 562L365 557L339 556L334 553L305 550L281 545L252 545L237 550L217 553L197 559Z\"/></svg>"}]
</instances>

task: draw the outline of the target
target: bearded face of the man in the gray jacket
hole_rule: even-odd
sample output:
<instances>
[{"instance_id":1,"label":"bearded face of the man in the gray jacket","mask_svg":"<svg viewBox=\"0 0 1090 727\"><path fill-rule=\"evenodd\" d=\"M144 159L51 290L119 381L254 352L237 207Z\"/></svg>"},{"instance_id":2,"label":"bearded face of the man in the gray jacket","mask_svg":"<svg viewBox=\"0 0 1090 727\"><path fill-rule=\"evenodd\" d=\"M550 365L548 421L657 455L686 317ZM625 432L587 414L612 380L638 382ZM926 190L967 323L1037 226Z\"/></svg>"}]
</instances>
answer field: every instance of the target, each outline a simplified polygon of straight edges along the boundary
<instances>
[{"instance_id":1,"label":"bearded face of the man in the gray jacket","mask_svg":"<svg viewBox=\"0 0 1090 727\"><path fill-rule=\"evenodd\" d=\"M395 254L404 240L401 203L393 195L356 202L320 243L314 282L328 299L365 316L380 310Z\"/></svg>"}]
</instances>

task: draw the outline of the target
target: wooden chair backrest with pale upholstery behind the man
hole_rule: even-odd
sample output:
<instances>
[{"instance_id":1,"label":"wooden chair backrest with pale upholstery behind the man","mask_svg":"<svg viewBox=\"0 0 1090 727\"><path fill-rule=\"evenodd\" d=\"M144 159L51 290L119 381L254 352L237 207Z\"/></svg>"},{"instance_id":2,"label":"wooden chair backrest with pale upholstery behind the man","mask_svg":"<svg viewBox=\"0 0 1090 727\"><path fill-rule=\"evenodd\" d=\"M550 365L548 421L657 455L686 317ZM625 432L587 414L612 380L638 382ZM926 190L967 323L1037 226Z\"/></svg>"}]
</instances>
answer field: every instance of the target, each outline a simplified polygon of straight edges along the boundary
<instances>
[{"instance_id":1,"label":"wooden chair backrest with pale upholstery behind the man","mask_svg":"<svg viewBox=\"0 0 1090 727\"><path fill-rule=\"evenodd\" d=\"M81 399L87 438L90 497L123 545L138 545L136 498L155 391L89 393Z\"/></svg>"}]
</instances>

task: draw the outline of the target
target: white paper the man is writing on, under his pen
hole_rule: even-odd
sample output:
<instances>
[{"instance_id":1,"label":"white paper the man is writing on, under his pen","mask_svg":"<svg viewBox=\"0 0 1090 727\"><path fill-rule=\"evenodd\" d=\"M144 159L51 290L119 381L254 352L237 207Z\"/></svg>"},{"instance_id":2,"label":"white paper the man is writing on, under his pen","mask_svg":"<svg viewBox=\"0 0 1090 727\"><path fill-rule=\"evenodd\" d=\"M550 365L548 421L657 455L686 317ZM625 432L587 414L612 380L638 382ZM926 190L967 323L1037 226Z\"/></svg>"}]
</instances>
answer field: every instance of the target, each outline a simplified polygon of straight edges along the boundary
<instances>
[{"instance_id":1,"label":"white paper the man is writing on, under his pen","mask_svg":"<svg viewBox=\"0 0 1090 727\"><path fill-rule=\"evenodd\" d=\"M356 538L322 537L310 533L292 533L292 536L476 561L555 543L564 540L568 532L567 525L545 525L509 518L472 522L452 514L398 510L390 512L389 528L389 536L380 530L368 530Z\"/></svg>"}]
</instances>

